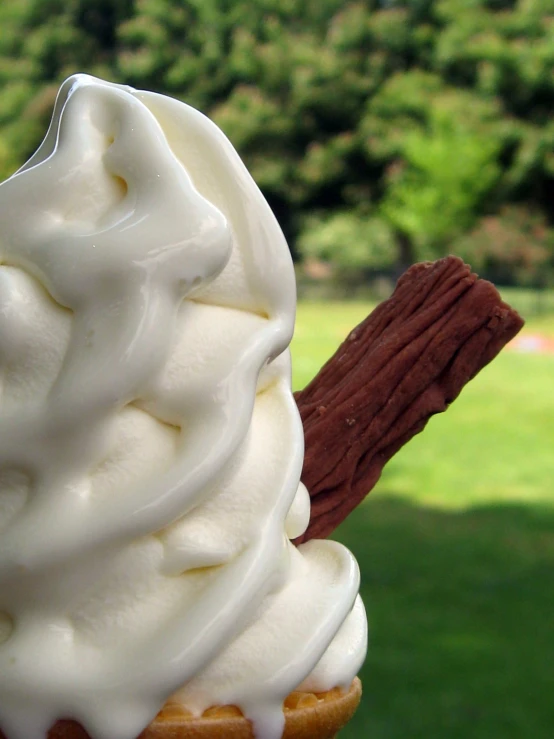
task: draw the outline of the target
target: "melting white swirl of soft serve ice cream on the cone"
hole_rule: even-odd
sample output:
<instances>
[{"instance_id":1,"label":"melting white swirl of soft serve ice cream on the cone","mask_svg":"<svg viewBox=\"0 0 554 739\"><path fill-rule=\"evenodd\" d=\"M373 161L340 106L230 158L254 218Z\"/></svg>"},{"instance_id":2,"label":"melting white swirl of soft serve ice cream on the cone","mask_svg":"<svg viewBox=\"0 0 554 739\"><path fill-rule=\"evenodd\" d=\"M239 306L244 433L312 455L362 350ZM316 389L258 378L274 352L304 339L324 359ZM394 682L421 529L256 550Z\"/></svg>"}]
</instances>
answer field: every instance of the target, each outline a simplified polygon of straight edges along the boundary
<instances>
[{"instance_id":1,"label":"melting white swirl of soft serve ice cream on the cone","mask_svg":"<svg viewBox=\"0 0 554 739\"><path fill-rule=\"evenodd\" d=\"M134 739L173 696L262 739L348 686L358 569L308 523L295 286L217 127L75 76L0 186L0 728Z\"/></svg>"}]
</instances>

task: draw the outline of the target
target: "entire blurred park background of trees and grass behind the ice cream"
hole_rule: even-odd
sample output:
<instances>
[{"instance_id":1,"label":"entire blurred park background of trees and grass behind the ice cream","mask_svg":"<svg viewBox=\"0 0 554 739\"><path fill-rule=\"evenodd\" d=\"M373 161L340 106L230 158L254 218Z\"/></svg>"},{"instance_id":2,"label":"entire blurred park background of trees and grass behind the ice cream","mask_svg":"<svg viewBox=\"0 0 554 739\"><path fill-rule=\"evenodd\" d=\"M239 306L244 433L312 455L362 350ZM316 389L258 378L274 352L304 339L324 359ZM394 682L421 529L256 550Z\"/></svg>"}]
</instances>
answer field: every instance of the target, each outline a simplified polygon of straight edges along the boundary
<instances>
[{"instance_id":1,"label":"entire blurred park background of trees and grass behind the ice cream","mask_svg":"<svg viewBox=\"0 0 554 739\"><path fill-rule=\"evenodd\" d=\"M415 261L458 254L524 315L337 533L371 625L341 736L551 739L554 0L5 0L2 179L76 71L235 144L295 260L295 387Z\"/></svg>"}]
</instances>

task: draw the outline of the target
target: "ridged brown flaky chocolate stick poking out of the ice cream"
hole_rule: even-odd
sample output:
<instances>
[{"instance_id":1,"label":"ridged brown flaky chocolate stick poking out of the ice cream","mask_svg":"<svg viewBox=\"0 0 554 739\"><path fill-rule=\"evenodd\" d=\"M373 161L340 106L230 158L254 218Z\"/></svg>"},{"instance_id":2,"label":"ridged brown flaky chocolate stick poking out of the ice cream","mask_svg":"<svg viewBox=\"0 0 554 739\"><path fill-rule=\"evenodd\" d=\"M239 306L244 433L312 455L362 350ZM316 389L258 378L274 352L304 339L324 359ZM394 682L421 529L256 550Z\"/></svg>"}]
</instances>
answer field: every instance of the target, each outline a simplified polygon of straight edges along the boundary
<instances>
[{"instance_id":1,"label":"ridged brown flaky chocolate stick poking out of the ice cream","mask_svg":"<svg viewBox=\"0 0 554 739\"><path fill-rule=\"evenodd\" d=\"M306 440L306 533L328 536L386 462L440 413L523 326L494 285L458 257L398 280L307 387L295 394Z\"/></svg>"}]
</instances>

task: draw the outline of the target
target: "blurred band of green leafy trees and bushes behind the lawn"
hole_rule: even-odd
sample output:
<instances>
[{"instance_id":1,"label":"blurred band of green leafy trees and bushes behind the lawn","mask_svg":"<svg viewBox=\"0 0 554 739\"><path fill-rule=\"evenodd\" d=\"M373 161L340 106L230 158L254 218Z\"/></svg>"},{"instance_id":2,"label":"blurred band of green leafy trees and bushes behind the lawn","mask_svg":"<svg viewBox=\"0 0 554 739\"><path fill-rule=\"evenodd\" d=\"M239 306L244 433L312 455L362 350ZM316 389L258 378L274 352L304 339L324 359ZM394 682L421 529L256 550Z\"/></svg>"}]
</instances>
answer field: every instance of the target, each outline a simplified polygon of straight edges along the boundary
<instances>
[{"instance_id":1,"label":"blurred band of green leafy trees and bushes behind the lawn","mask_svg":"<svg viewBox=\"0 0 554 739\"><path fill-rule=\"evenodd\" d=\"M212 116L295 253L339 271L444 253L507 207L548 230L553 13L554 0L9 0L0 176L85 71ZM345 251L346 233L361 241Z\"/></svg>"}]
</instances>

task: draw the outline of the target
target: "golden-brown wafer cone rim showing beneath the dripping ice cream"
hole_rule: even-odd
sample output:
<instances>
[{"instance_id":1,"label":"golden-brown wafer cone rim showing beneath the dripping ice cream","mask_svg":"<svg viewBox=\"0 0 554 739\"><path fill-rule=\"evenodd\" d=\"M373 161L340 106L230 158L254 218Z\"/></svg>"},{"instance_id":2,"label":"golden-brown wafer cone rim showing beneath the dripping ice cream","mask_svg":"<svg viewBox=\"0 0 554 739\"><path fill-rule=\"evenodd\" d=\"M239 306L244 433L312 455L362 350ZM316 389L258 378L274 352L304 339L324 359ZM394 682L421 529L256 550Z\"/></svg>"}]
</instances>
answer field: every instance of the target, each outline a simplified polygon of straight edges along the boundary
<instances>
[{"instance_id":1,"label":"golden-brown wafer cone rim showing beneath the dripping ice cream","mask_svg":"<svg viewBox=\"0 0 554 739\"><path fill-rule=\"evenodd\" d=\"M358 707L362 684L355 678L348 692L295 691L285 700L282 739L333 739ZM0 739L4 735L0 731ZM75 721L58 721L48 739L90 739ZM235 706L209 708L200 717L176 703L167 703L138 739L255 739L252 725Z\"/></svg>"}]
</instances>

